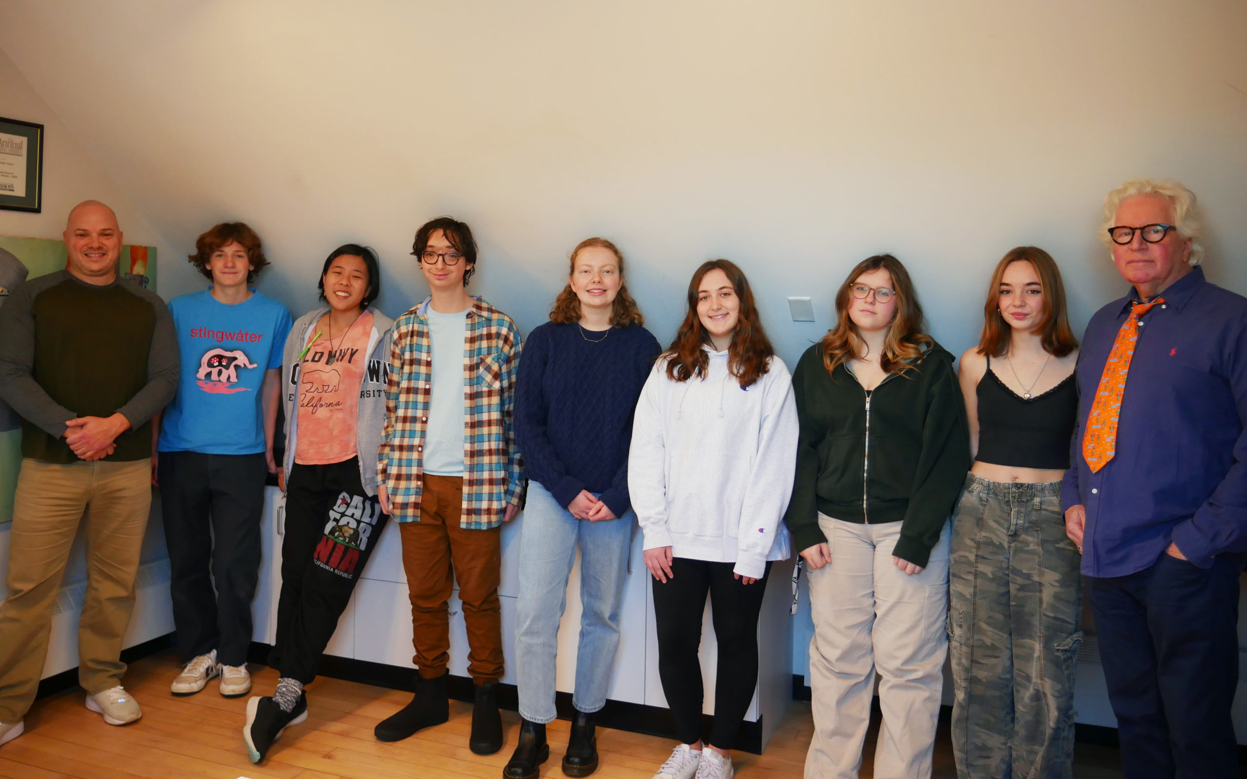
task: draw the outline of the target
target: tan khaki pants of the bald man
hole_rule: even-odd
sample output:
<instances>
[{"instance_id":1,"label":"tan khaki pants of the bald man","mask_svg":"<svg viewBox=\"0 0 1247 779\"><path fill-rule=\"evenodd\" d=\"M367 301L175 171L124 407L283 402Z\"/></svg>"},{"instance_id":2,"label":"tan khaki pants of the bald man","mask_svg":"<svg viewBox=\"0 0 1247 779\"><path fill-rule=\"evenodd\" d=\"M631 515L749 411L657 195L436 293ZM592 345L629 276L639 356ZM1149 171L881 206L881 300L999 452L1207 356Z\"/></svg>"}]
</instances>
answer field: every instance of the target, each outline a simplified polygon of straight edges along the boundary
<instances>
[{"instance_id":1,"label":"tan khaki pants of the bald man","mask_svg":"<svg viewBox=\"0 0 1247 779\"><path fill-rule=\"evenodd\" d=\"M0 722L17 722L35 700L56 591L87 510L79 683L89 694L121 683L126 672L121 639L135 608L135 575L151 499L148 460L22 461L9 533L9 595L0 606Z\"/></svg>"}]
</instances>

